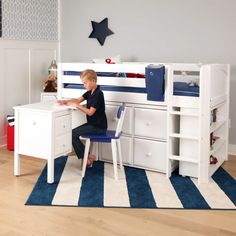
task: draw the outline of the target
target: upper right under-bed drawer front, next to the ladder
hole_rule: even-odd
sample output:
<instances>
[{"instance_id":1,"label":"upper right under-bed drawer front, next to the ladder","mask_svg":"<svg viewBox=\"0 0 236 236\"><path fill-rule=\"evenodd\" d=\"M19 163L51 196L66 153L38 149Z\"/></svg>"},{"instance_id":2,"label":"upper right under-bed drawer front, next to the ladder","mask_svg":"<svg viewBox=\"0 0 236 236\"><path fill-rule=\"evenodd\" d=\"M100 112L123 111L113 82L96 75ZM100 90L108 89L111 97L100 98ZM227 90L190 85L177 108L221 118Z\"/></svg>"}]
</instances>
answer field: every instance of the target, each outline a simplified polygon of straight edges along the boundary
<instances>
[{"instance_id":1,"label":"upper right under-bed drawer front, next to the ladder","mask_svg":"<svg viewBox=\"0 0 236 236\"><path fill-rule=\"evenodd\" d=\"M135 131L138 136L167 139L167 112L135 108Z\"/></svg>"}]
</instances>

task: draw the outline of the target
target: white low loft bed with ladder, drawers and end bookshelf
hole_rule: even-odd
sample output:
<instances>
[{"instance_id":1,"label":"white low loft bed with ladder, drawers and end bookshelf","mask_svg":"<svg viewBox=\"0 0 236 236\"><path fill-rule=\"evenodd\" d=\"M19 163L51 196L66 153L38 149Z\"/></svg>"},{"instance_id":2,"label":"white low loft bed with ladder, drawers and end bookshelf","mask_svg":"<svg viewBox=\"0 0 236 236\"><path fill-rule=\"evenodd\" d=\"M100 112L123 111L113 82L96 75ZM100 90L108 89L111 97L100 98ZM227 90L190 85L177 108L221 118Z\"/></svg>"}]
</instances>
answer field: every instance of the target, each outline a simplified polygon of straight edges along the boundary
<instances>
[{"instance_id":1,"label":"white low loft bed with ladder, drawers and end bookshelf","mask_svg":"<svg viewBox=\"0 0 236 236\"><path fill-rule=\"evenodd\" d=\"M59 63L59 99L85 92L79 77L85 69L98 74L109 128L115 127L117 106L126 102L121 142L126 165L168 177L179 167L180 174L201 183L227 159L229 65ZM109 146L101 145L99 155L111 161Z\"/></svg>"}]
</instances>

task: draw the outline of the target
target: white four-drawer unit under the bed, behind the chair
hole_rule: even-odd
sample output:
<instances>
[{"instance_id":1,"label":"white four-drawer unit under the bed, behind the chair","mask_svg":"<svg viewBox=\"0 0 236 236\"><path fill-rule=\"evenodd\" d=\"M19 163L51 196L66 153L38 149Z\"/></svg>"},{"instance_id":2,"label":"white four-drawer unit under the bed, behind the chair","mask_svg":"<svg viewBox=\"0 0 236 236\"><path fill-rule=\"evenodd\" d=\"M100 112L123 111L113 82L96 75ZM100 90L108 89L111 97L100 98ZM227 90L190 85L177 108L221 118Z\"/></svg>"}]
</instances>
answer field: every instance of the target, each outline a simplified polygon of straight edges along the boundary
<instances>
[{"instance_id":1,"label":"white four-drawer unit under the bed, behind the chair","mask_svg":"<svg viewBox=\"0 0 236 236\"><path fill-rule=\"evenodd\" d=\"M106 102L108 128L115 129L119 103ZM166 172L167 111L160 106L126 103L121 138L123 162L138 168ZM111 147L100 145L99 157L112 162Z\"/></svg>"}]
</instances>

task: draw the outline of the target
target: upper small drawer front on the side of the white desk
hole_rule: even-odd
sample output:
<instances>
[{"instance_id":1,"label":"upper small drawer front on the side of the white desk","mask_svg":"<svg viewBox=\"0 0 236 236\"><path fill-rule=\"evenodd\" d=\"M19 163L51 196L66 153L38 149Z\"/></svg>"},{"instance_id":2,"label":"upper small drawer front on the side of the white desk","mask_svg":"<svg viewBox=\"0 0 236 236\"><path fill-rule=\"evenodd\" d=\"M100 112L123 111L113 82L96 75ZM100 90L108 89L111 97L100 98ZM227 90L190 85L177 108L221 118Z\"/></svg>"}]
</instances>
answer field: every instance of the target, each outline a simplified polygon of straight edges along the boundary
<instances>
[{"instance_id":1,"label":"upper small drawer front on the side of the white desk","mask_svg":"<svg viewBox=\"0 0 236 236\"><path fill-rule=\"evenodd\" d=\"M71 130L71 115L59 116L55 119L56 136L65 134Z\"/></svg>"}]
</instances>

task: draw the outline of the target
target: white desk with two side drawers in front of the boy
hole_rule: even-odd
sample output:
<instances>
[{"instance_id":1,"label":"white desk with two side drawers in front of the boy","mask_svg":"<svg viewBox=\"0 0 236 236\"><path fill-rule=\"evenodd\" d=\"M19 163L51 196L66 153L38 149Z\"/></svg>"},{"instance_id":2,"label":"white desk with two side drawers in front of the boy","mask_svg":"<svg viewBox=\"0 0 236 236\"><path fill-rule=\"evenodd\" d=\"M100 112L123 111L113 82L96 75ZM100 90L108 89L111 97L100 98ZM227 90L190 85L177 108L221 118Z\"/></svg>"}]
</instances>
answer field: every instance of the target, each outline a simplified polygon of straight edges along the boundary
<instances>
[{"instance_id":1,"label":"white desk with two side drawers in front of the boy","mask_svg":"<svg viewBox=\"0 0 236 236\"><path fill-rule=\"evenodd\" d=\"M54 102L14 107L14 175L20 175L20 154L46 159L47 182L54 182L54 159L71 152L72 110Z\"/></svg>"}]
</instances>

